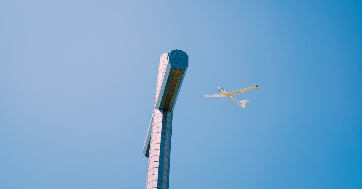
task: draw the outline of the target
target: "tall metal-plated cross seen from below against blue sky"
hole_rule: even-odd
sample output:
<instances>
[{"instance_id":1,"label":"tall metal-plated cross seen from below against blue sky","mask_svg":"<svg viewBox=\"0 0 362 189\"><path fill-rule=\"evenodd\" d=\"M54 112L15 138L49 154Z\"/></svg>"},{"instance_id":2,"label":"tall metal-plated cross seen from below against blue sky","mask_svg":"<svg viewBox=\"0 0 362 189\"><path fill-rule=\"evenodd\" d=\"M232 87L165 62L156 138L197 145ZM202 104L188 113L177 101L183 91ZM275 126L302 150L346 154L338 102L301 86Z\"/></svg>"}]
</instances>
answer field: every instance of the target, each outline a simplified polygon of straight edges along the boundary
<instances>
[{"instance_id":1,"label":"tall metal-plated cross seen from below against blue sky","mask_svg":"<svg viewBox=\"0 0 362 189\"><path fill-rule=\"evenodd\" d=\"M188 65L189 56L184 51L161 55L155 106L143 145L143 154L148 158L146 189L168 189L172 112Z\"/></svg>"}]
</instances>

